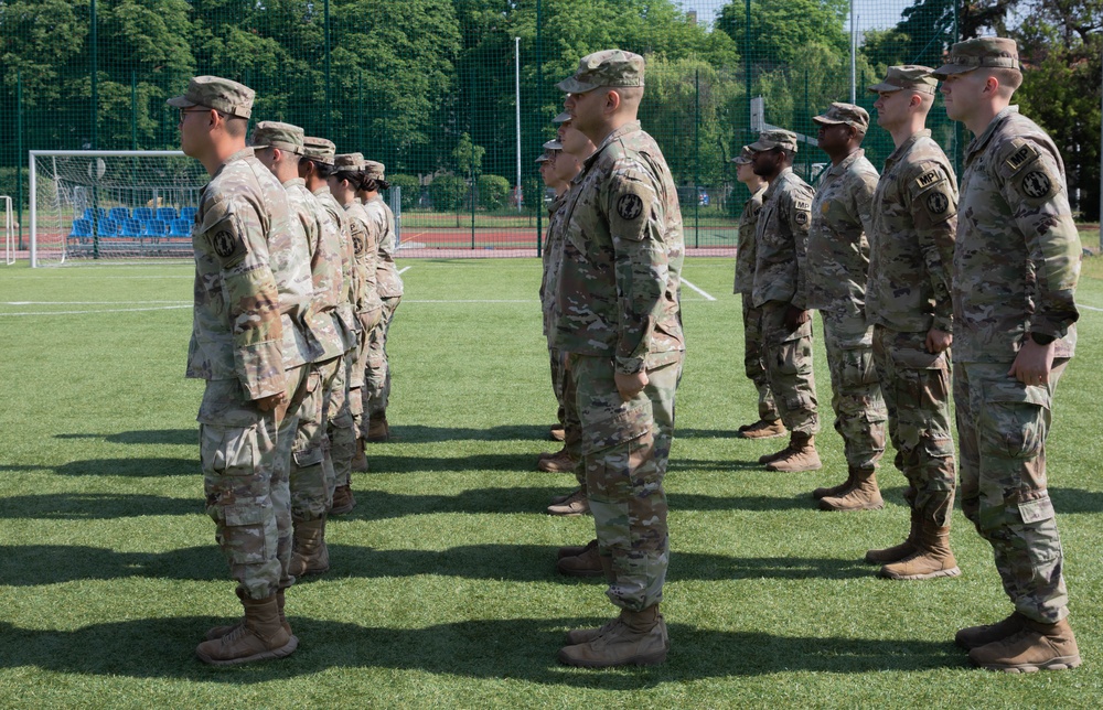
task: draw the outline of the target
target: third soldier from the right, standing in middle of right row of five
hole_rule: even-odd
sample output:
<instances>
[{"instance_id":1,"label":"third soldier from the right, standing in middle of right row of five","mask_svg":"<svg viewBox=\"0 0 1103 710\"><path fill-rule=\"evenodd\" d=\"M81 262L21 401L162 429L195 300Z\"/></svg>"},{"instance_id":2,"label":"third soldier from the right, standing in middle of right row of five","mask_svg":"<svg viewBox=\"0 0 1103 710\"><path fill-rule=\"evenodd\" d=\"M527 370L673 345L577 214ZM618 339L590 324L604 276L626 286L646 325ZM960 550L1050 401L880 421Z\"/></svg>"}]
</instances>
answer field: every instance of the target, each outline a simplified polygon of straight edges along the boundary
<instances>
[{"instance_id":1,"label":"third soldier from the right, standing in middle of right row of five","mask_svg":"<svg viewBox=\"0 0 1103 710\"><path fill-rule=\"evenodd\" d=\"M861 140L869 128L866 109L835 103L812 119L820 125L820 149L831 158L815 200L807 247L807 305L820 311L831 372L835 431L843 437L847 477L816 488L823 510L885 507L877 487L877 462L885 454L885 399L874 366L872 327L866 320L870 201L877 170Z\"/></svg>"}]
</instances>

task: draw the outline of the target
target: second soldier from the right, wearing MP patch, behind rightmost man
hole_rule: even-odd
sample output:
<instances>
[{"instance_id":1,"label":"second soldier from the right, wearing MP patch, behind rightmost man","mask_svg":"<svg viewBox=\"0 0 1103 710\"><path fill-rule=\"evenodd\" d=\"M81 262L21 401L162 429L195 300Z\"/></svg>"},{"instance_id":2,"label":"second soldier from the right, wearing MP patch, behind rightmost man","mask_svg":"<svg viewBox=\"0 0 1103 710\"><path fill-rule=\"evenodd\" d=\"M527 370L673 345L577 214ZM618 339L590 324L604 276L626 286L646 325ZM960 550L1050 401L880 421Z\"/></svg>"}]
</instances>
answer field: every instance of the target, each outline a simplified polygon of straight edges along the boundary
<instances>
[{"instance_id":1,"label":"second soldier from the right, wearing MP patch, behind rightmost man","mask_svg":"<svg viewBox=\"0 0 1103 710\"><path fill-rule=\"evenodd\" d=\"M882 577L923 580L961 574L950 549L954 440L950 421L950 270L957 229L953 168L927 130L938 79L925 66L890 66L877 123L896 150L874 193L866 318L889 413L896 466L908 481L911 528L900 545L866 552Z\"/></svg>"}]
</instances>

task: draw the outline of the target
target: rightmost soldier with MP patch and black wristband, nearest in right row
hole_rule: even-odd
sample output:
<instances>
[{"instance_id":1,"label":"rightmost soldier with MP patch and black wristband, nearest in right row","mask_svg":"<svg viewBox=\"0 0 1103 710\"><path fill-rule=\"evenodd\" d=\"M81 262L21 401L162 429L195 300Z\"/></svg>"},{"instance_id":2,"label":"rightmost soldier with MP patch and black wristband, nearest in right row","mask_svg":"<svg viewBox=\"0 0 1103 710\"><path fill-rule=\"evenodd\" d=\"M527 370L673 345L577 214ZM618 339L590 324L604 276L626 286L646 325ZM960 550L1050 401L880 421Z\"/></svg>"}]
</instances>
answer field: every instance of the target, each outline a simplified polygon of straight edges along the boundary
<instances>
[{"instance_id":1,"label":"rightmost soldier with MP patch and black wristband, nearest in right row","mask_svg":"<svg viewBox=\"0 0 1103 710\"><path fill-rule=\"evenodd\" d=\"M956 641L984 668L1072 668L1080 652L1046 486L1053 392L1079 319L1081 245L1064 163L1046 131L1010 105L1022 82L1014 40L960 42L935 76L946 115L975 136L953 270L962 509L992 544L1015 606Z\"/></svg>"}]
</instances>

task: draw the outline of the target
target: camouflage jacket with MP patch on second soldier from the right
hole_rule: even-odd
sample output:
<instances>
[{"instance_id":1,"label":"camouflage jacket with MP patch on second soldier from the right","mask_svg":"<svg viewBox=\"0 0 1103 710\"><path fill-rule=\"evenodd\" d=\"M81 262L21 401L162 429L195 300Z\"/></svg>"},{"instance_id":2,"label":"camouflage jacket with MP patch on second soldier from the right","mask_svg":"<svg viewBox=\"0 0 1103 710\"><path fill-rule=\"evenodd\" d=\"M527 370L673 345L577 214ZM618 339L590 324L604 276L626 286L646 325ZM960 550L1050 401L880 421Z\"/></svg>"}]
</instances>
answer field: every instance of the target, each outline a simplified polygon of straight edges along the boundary
<instances>
[{"instance_id":1,"label":"camouflage jacket with MP patch on second soldier from the right","mask_svg":"<svg viewBox=\"0 0 1103 710\"><path fill-rule=\"evenodd\" d=\"M957 183L931 131L919 131L885 161L872 213L867 320L899 333L953 332Z\"/></svg>"}]
</instances>

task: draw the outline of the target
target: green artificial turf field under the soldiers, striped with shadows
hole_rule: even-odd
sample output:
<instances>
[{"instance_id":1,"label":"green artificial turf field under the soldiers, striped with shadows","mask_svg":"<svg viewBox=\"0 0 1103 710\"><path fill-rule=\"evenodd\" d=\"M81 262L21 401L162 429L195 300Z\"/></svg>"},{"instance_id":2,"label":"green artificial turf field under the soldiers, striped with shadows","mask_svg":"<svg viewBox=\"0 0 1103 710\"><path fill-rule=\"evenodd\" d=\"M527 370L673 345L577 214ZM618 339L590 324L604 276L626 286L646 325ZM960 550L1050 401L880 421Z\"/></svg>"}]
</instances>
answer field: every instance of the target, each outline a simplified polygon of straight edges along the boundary
<instances>
[{"instance_id":1,"label":"green artificial turf field under the soldiers, striped with shadows","mask_svg":"<svg viewBox=\"0 0 1103 710\"><path fill-rule=\"evenodd\" d=\"M1084 665L975 670L954 632L1009 612L990 550L959 510L963 575L877 579L861 556L906 534L902 476L886 508L828 514L808 492L845 476L817 325L824 470L754 461L783 440L754 419L727 259L684 276L688 358L666 478L672 648L654 668L557 665L567 628L614 613L597 582L559 577L555 550L592 519L553 518L572 478L537 473L555 415L539 262L405 260L388 412L358 505L329 525L331 571L288 591L299 649L211 668L203 633L236 618L203 513L195 412L183 378L188 266L0 270L0 706L1097 707L1103 686L1103 261L1080 288L1079 356L1049 440ZM891 451L886 456L891 462Z\"/></svg>"}]
</instances>

